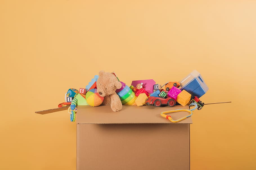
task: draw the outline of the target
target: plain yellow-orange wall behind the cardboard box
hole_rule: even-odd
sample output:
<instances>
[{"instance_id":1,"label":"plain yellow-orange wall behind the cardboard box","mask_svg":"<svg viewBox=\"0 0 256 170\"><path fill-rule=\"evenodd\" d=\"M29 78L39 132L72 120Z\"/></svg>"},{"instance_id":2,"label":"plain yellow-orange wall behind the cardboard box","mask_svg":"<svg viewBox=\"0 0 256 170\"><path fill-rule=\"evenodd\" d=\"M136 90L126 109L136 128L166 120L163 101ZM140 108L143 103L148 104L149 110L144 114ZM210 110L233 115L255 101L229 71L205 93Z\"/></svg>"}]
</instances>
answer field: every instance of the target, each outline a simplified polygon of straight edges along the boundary
<instances>
[{"instance_id":1,"label":"plain yellow-orange wall behind the cardboard box","mask_svg":"<svg viewBox=\"0 0 256 170\"><path fill-rule=\"evenodd\" d=\"M191 125L191 170L255 169L256 1L0 2L0 169L75 169L76 124L56 108L99 70L209 89ZM145 106L146 107L146 106Z\"/></svg>"}]
</instances>

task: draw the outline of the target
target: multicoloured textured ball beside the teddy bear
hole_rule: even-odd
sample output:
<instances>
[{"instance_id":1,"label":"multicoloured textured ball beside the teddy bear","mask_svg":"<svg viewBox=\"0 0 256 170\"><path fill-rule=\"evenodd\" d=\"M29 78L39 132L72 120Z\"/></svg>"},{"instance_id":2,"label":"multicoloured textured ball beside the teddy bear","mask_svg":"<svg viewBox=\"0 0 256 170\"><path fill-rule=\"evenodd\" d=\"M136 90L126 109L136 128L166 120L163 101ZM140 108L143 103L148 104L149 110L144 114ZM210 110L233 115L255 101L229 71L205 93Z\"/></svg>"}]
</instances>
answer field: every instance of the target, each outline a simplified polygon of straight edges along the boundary
<instances>
[{"instance_id":1,"label":"multicoloured textured ball beside the teddy bear","mask_svg":"<svg viewBox=\"0 0 256 170\"><path fill-rule=\"evenodd\" d=\"M86 93L86 102L90 106L100 106L104 100L104 97L101 97L99 93L97 93L97 89L91 89Z\"/></svg>"}]
</instances>

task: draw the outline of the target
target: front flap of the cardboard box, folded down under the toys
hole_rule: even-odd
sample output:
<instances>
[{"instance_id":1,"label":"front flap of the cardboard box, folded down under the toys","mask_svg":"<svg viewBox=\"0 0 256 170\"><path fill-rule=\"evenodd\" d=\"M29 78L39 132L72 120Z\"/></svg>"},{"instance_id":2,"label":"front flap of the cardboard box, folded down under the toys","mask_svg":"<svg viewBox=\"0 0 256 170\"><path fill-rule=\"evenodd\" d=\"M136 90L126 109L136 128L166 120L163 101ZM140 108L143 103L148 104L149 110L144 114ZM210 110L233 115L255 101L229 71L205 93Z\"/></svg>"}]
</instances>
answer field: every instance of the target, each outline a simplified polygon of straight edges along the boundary
<instances>
[{"instance_id":1,"label":"front flap of the cardboard box, folded down under the toys","mask_svg":"<svg viewBox=\"0 0 256 170\"><path fill-rule=\"evenodd\" d=\"M189 109L188 106L123 106L122 110L113 112L110 106L78 106L77 124L145 124L160 123L170 124L170 120L162 117L162 111ZM174 120L189 115L186 111L168 113ZM185 120L177 122L178 124L192 124L191 116ZM173 124L173 123L172 123Z\"/></svg>"}]
</instances>

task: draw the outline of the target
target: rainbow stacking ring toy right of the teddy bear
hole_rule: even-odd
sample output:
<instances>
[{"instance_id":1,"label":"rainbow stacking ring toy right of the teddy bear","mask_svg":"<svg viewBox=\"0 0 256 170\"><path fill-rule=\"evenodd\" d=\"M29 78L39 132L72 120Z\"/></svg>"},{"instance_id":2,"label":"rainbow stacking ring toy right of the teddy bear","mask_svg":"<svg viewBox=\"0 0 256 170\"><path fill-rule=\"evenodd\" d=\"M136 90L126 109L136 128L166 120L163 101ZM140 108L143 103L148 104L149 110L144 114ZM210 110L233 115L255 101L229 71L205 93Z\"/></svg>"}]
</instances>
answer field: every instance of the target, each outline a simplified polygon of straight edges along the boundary
<instances>
[{"instance_id":1,"label":"rainbow stacking ring toy right of the teddy bear","mask_svg":"<svg viewBox=\"0 0 256 170\"><path fill-rule=\"evenodd\" d=\"M122 83L122 87L120 89L117 89L116 93L119 96L121 103L123 105L133 105L137 98L132 90L132 88L134 87L130 88L122 81L120 81L120 83Z\"/></svg>"}]
</instances>

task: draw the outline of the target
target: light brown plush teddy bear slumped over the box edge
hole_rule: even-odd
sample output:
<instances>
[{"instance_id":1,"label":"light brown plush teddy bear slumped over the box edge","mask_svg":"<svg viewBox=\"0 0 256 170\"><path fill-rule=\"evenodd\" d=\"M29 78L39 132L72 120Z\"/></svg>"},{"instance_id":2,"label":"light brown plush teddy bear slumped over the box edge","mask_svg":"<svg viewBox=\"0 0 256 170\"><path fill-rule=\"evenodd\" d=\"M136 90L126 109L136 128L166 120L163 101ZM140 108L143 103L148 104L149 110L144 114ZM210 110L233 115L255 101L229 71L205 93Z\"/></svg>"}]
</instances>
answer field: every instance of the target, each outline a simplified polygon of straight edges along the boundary
<instances>
[{"instance_id":1,"label":"light brown plush teddy bear slumped over the box edge","mask_svg":"<svg viewBox=\"0 0 256 170\"><path fill-rule=\"evenodd\" d=\"M120 89L122 84L116 76L111 73L100 71L99 78L96 82L97 92L101 97L104 97L103 105L110 105L113 111L120 111L122 103L119 96L116 94L116 89Z\"/></svg>"}]
</instances>

